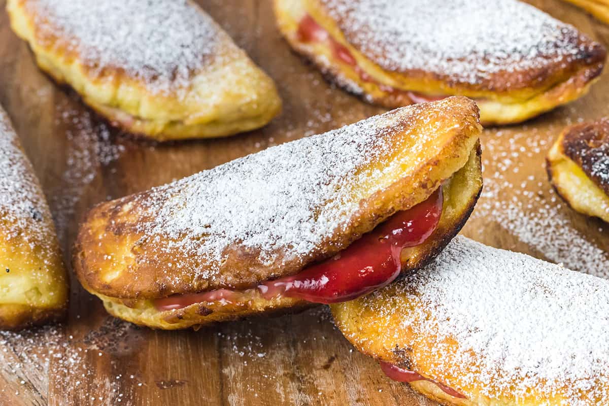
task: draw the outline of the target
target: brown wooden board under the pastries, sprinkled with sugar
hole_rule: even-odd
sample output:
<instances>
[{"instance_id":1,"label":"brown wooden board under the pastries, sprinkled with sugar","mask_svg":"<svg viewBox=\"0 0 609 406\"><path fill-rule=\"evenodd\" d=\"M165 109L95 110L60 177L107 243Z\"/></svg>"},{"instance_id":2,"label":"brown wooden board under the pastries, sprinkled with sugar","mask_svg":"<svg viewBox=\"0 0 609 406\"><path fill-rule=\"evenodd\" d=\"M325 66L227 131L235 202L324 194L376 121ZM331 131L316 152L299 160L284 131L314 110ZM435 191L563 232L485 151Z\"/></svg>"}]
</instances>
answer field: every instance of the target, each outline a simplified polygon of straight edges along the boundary
<instances>
[{"instance_id":1,"label":"brown wooden board under the pastries, sprinkled with sugar","mask_svg":"<svg viewBox=\"0 0 609 406\"><path fill-rule=\"evenodd\" d=\"M0 12L0 103L51 205L69 257L86 209L270 145L382 110L328 85L292 54L269 0L205 0L205 10L275 79L284 111L233 138L155 146L118 135L41 74ZM536 0L609 45L609 27L558 0ZM0 0L4 9L4 0ZM507 16L506 16L507 17ZM581 271L609 272L599 220L552 192L544 155L565 125L609 115L609 77L591 93L525 125L485 130L485 191L463 233ZM0 333L1 405L432 405L354 351L326 309L164 332L115 320L72 281L66 324Z\"/></svg>"}]
</instances>

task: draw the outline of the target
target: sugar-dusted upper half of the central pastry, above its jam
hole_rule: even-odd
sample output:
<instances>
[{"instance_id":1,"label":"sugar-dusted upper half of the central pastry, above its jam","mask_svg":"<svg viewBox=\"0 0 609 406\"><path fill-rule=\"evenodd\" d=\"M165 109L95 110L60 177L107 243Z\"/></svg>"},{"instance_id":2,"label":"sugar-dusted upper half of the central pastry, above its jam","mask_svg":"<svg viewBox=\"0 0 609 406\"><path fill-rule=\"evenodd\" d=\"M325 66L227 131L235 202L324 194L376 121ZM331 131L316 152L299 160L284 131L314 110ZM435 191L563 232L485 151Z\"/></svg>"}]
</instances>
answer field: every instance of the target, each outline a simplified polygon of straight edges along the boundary
<instances>
[{"instance_id":1,"label":"sugar-dusted upper half of the central pastry, above its jam","mask_svg":"<svg viewBox=\"0 0 609 406\"><path fill-rule=\"evenodd\" d=\"M477 120L464 97L422 103L102 203L79 234L79 275L116 297L296 273L429 197L467 162Z\"/></svg>"}]
</instances>

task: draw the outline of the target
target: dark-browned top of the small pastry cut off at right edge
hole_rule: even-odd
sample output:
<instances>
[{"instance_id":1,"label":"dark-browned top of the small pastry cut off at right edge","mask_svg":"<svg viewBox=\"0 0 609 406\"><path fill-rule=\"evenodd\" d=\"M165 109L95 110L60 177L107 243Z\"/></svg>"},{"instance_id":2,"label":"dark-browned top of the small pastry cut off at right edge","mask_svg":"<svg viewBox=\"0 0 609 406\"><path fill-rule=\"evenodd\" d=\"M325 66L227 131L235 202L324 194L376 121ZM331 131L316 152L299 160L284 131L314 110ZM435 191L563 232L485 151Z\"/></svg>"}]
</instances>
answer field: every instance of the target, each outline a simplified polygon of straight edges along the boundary
<instances>
[{"instance_id":1,"label":"dark-browned top of the small pastry cut off at right edge","mask_svg":"<svg viewBox=\"0 0 609 406\"><path fill-rule=\"evenodd\" d=\"M609 119L571 127L561 144L563 153L609 195Z\"/></svg>"}]
</instances>

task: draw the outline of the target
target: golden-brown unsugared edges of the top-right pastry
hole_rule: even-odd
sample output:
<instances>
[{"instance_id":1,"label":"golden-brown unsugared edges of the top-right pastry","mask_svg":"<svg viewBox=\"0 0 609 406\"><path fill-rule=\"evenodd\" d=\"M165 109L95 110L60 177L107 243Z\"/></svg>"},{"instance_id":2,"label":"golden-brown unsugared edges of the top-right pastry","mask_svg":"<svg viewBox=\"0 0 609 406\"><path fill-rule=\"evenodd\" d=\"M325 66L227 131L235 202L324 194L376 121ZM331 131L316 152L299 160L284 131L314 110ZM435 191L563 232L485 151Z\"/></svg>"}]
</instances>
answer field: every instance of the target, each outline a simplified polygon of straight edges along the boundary
<instances>
[{"instance_id":1,"label":"golden-brown unsugared edges of the top-right pastry","mask_svg":"<svg viewBox=\"0 0 609 406\"><path fill-rule=\"evenodd\" d=\"M580 54L577 60L572 60L573 57L571 57L570 63L565 63L566 68L556 64L551 67L552 69L546 69L546 67L542 70L545 73L541 77L533 77L530 72L523 74L523 78L529 77L528 87L512 86L510 83L509 89L503 90L496 83L482 85L474 83L472 86L471 83L462 83L463 81L454 78L445 80L442 75L425 74L425 72L419 72L418 76L410 76L400 72L385 71L351 46L337 27L336 21L325 15L321 7L314 9L314 4L319 1L295 1L301 2L299 7L304 7L309 15L329 32L334 41L347 47L347 50L355 57L359 68L373 80L362 80L357 69L334 60L325 51L319 49L319 47L328 47L327 44L318 46L315 42L300 42L297 35L297 22L295 22L298 17L292 15L290 6L286 5L289 0L275 0L274 9L278 27L292 50L311 61L322 71L329 82L336 83L339 87L362 97L367 102L387 108L414 103L410 97L410 91L415 95L420 94L421 97L432 98L460 94L477 101L483 125L523 122L585 95L590 86L598 80L606 57L605 48L586 37L585 41L591 41L591 45L588 47L590 52L587 52L587 55ZM296 12L296 14L298 13ZM544 79L544 77L549 77L549 71L555 71L554 76L546 80L547 78ZM521 73L519 71L519 74ZM504 85L507 84L506 81ZM385 85L389 85L393 90ZM491 85L490 88L484 87Z\"/></svg>"}]
</instances>

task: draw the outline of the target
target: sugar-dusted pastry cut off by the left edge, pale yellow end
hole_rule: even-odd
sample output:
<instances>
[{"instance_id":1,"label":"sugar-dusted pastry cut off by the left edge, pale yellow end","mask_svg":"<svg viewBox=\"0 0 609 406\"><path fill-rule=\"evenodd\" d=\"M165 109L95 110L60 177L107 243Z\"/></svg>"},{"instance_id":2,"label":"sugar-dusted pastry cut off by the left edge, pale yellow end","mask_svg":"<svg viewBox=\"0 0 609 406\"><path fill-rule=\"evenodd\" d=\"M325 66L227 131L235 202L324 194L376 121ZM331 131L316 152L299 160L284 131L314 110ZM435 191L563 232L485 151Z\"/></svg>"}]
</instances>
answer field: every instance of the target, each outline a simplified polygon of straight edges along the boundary
<instances>
[{"instance_id":1,"label":"sugar-dusted pastry cut off by the left edge, pale yellow end","mask_svg":"<svg viewBox=\"0 0 609 406\"><path fill-rule=\"evenodd\" d=\"M0 107L0 329L63 318L68 276L43 191Z\"/></svg>"}]
</instances>

